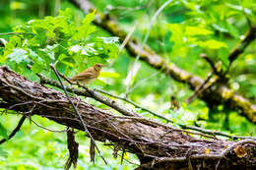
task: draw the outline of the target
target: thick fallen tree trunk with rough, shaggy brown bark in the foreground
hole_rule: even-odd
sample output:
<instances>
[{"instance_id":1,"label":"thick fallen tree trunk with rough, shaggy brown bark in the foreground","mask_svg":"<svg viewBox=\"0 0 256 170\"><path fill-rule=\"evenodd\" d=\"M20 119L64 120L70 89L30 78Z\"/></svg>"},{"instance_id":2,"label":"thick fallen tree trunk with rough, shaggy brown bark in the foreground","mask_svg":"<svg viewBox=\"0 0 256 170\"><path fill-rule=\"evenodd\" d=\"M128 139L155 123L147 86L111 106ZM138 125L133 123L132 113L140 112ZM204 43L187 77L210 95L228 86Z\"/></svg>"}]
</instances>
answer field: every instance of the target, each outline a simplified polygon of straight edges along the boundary
<instances>
[{"instance_id":1,"label":"thick fallen tree trunk with rough, shaggy brown bark in the foreground","mask_svg":"<svg viewBox=\"0 0 256 170\"><path fill-rule=\"evenodd\" d=\"M34 114L59 124L84 130L67 97L55 89L28 81L0 68L0 108ZM193 132L176 129L143 117L116 116L71 97L93 137L111 142L119 150L136 154L137 169L253 169L256 142L227 142L191 137Z\"/></svg>"}]
</instances>

